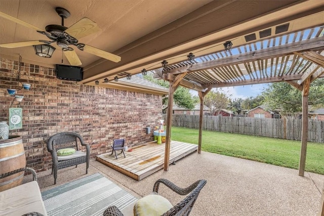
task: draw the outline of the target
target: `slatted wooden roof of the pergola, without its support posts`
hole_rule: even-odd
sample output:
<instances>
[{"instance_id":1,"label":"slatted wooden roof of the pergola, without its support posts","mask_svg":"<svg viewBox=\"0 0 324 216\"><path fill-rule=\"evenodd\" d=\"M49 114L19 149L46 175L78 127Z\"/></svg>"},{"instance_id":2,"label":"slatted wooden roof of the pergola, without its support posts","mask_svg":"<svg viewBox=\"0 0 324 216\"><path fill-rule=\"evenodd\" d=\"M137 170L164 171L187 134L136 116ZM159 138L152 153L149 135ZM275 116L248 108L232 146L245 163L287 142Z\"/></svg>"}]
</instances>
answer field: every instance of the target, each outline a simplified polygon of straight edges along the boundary
<instances>
[{"instance_id":1,"label":"slatted wooden roof of the pergola, without its support posts","mask_svg":"<svg viewBox=\"0 0 324 216\"><path fill-rule=\"evenodd\" d=\"M180 85L199 92L277 81L301 89L306 78L324 76L323 34L318 26L260 40L155 70L154 77L173 81L182 74Z\"/></svg>"}]
</instances>

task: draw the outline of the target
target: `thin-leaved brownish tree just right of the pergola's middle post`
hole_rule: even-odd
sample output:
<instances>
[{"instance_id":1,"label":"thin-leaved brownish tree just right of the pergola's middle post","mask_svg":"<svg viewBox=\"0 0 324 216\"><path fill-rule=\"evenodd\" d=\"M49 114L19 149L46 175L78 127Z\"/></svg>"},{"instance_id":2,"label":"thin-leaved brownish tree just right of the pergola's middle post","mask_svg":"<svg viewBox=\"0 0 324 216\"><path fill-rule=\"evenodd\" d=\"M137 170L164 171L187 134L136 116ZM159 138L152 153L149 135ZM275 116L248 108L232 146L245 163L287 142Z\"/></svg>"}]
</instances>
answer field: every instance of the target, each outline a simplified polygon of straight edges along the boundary
<instances>
[{"instance_id":1,"label":"thin-leaved brownish tree just right of the pergola's middle post","mask_svg":"<svg viewBox=\"0 0 324 216\"><path fill-rule=\"evenodd\" d=\"M228 102L229 98L222 90L210 91L204 99L204 104L210 108L212 115L217 115L220 109L226 109Z\"/></svg>"}]
</instances>

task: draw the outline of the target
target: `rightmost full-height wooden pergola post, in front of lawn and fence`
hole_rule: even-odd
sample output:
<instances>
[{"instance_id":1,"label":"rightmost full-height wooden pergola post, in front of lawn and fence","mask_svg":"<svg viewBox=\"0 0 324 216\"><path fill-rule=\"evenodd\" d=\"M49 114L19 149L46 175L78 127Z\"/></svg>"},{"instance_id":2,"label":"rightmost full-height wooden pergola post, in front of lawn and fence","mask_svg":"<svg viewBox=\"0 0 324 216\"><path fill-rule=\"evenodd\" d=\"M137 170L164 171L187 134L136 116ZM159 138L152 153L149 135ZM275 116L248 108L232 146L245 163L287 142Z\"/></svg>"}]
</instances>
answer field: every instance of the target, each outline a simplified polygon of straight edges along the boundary
<instances>
[{"instance_id":1,"label":"rightmost full-height wooden pergola post, in front of lawn and fence","mask_svg":"<svg viewBox=\"0 0 324 216\"><path fill-rule=\"evenodd\" d=\"M308 140L308 95L309 95L310 78L307 78L302 86L302 141L299 160L299 176L304 176L306 163L306 149Z\"/></svg>"}]
</instances>

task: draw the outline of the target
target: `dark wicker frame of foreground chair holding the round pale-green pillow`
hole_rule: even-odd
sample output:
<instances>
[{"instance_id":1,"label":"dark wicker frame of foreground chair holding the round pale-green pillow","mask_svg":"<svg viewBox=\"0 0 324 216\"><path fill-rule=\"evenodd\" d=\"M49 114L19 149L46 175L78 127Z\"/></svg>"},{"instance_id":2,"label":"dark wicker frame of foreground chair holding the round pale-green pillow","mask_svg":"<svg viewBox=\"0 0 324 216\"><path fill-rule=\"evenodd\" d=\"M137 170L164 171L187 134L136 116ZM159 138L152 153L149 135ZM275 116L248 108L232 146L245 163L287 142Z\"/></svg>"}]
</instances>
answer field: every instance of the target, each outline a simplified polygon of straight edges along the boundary
<instances>
[{"instance_id":1,"label":"dark wicker frame of foreground chair holding the round pale-green pillow","mask_svg":"<svg viewBox=\"0 0 324 216\"><path fill-rule=\"evenodd\" d=\"M159 179L155 182L153 187L153 193L158 193L159 184L163 183L168 188L176 192L180 195L187 195L186 198L184 198L182 201L180 201L178 204L174 205L170 210L162 214L162 216L171 216L171 215L177 215L177 216L183 216L183 215L189 215L200 190L206 185L206 180L198 180L192 185L190 185L187 188L180 188L170 182L166 179ZM121 211L116 206L110 206L108 207L104 212L103 216L123 216L124 214L121 213Z\"/></svg>"}]
</instances>

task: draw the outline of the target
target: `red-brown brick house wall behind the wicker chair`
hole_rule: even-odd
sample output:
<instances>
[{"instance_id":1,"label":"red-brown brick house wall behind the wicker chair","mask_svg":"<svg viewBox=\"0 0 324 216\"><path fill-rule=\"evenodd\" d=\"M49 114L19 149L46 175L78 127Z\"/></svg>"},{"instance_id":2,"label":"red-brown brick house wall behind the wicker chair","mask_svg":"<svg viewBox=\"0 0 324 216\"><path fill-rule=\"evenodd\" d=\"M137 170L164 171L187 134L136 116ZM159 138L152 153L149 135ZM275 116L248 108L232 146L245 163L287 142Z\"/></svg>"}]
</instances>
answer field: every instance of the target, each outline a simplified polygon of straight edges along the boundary
<instances>
[{"instance_id":1,"label":"red-brown brick house wall behind the wicker chair","mask_svg":"<svg viewBox=\"0 0 324 216\"><path fill-rule=\"evenodd\" d=\"M18 62L0 58L0 121L9 120L13 97L7 89L19 89ZM23 128L10 131L22 136L27 166L36 171L52 167L48 138L58 132L76 132L91 145L91 157L109 152L112 140L125 138L128 146L152 141L146 126L161 119L161 96L106 89L56 78L52 68L23 63L21 81L31 84L24 95ZM14 102L12 107L18 107ZM153 131L153 130L151 130Z\"/></svg>"}]
</instances>

